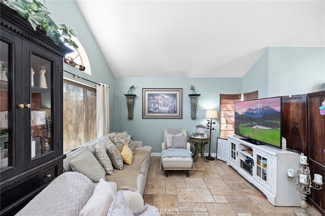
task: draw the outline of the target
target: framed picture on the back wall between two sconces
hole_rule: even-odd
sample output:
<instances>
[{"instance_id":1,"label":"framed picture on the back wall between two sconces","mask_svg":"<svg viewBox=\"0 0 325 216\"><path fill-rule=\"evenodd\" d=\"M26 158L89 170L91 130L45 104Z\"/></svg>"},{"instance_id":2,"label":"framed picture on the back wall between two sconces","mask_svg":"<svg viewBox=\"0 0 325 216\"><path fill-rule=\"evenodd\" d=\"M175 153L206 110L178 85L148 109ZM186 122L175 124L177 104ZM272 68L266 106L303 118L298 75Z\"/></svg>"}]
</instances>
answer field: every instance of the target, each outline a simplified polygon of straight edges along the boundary
<instances>
[{"instance_id":1,"label":"framed picture on the back wall between two sconces","mask_svg":"<svg viewBox=\"0 0 325 216\"><path fill-rule=\"evenodd\" d=\"M142 89L143 119L182 119L183 89Z\"/></svg>"}]
</instances>

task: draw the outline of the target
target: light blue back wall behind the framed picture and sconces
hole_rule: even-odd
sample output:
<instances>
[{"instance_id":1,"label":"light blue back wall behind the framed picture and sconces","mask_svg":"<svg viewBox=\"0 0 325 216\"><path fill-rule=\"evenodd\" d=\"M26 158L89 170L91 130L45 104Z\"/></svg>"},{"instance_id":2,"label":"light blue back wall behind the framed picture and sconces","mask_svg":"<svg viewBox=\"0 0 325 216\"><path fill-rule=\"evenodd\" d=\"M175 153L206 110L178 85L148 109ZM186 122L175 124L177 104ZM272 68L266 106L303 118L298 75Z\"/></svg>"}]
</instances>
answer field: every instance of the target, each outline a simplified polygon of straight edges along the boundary
<instances>
[{"instance_id":1,"label":"light blue back wall behind the framed picture and sconces","mask_svg":"<svg viewBox=\"0 0 325 216\"><path fill-rule=\"evenodd\" d=\"M237 94L242 92L241 78L115 78L115 129L127 131L135 140L143 140L145 145L152 146L152 152L161 152L164 129L184 128L187 135L195 132L195 126L206 126L206 110L217 110L219 114L219 95ZM129 86L135 85L134 118L127 119L126 97ZM190 116L190 86L196 87L198 99L197 119ZM142 119L142 88L182 88L183 89L183 118L182 119ZM216 153L216 140L219 136L219 120L212 131L211 153ZM210 132L210 131L209 131ZM205 152L208 152L208 148Z\"/></svg>"}]
</instances>

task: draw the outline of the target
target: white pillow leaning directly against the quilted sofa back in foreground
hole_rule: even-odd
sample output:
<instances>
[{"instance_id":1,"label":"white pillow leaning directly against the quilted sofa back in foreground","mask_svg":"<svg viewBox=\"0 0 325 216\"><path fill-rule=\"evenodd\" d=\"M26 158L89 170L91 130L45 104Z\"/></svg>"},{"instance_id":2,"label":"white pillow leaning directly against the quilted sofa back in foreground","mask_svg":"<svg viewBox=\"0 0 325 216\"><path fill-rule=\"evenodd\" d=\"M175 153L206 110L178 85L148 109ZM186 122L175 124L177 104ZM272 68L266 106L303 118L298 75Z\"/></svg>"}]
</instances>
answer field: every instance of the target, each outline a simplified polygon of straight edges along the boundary
<instances>
[{"instance_id":1,"label":"white pillow leaning directly against the quilted sofa back in foreground","mask_svg":"<svg viewBox=\"0 0 325 216\"><path fill-rule=\"evenodd\" d=\"M115 193L108 182L101 178L100 182L93 191L92 196L81 209L79 215L106 215L109 209L107 203L112 203Z\"/></svg>"}]
</instances>

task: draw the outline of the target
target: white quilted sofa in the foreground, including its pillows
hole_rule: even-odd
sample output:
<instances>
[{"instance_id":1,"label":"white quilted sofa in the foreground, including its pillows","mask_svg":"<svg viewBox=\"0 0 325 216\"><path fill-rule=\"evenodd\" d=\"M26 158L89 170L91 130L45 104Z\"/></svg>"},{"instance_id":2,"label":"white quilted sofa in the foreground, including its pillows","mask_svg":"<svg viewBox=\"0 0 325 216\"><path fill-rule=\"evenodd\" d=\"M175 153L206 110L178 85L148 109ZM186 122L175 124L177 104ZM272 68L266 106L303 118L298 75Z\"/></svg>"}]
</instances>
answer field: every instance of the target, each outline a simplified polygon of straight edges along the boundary
<instances>
[{"instance_id":1,"label":"white quilted sofa in the foreground, including its pillows","mask_svg":"<svg viewBox=\"0 0 325 216\"><path fill-rule=\"evenodd\" d=\"M64 172L27 203L17 216L36 215L160 215L144 204L139 193L123 195L116 183L101 179L95 185L79 172Z\"/></svg>"}]
</instances>

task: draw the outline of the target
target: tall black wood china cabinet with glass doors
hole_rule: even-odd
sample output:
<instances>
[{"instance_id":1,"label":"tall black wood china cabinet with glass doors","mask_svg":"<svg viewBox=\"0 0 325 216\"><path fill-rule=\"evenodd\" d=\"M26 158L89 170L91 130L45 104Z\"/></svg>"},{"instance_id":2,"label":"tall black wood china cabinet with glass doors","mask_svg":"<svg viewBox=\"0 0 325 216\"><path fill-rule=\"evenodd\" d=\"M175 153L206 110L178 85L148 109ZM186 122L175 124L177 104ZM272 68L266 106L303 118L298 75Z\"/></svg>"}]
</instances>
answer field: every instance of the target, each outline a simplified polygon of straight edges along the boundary
<instances>
[{"instance_id":1,"label":"tall black wood china cabinet with glass doors","mask_svg":"<svg viewBox=\"0 0 325 216\"><path fill-rule=\"evenodd\" d=\"M68 52L1 4L1 215L15 214L62 173Z\"/></svg>"}]
</instances>

